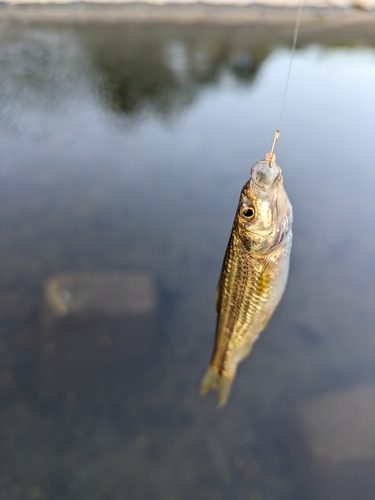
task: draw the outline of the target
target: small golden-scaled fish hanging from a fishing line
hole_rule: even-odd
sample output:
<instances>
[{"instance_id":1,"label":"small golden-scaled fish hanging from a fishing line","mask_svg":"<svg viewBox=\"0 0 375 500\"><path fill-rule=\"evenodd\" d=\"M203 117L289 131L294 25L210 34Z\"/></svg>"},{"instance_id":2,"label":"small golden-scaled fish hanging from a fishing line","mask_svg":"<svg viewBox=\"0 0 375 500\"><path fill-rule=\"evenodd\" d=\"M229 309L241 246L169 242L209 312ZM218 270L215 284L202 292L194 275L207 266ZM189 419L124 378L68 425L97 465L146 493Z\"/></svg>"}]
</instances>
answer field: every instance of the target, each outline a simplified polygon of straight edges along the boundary
<instances>
[{"instance_id":1,"label":"small golden-scaled fish hanging from a fishing line","mask_svg":"<svg viewBox=\"0 0 375 500\"><path fill-rule=\"evenodd\" d=\"M201 395L226 404L237 365L252 350L284 293L292 247L292 205L276 156L252 166L241 191L216 290L216 334Z\"/></svg>"}]
</instances>

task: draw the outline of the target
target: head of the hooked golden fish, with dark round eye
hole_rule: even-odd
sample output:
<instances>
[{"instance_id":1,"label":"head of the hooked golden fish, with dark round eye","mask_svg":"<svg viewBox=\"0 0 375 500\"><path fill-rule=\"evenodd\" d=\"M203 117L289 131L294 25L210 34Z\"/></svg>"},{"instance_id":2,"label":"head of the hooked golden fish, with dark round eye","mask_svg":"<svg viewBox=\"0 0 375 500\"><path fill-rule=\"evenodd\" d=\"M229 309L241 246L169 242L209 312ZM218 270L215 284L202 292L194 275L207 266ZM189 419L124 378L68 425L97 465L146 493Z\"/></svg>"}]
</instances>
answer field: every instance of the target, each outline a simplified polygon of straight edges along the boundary
<instances>
[{"instance_id":1,"label":"head of the hooked golden fish, with dark round eye","mask_svg":"<svg viewBox=\"0 0 375 500\"><path fill-rule=\"evenodd\" d=\"M267 253L281 243L291 229L292 207L283 187L281 168L275 161L253 165L242 189L234 229L244 247Z\"/></svg>"}]
</instances>

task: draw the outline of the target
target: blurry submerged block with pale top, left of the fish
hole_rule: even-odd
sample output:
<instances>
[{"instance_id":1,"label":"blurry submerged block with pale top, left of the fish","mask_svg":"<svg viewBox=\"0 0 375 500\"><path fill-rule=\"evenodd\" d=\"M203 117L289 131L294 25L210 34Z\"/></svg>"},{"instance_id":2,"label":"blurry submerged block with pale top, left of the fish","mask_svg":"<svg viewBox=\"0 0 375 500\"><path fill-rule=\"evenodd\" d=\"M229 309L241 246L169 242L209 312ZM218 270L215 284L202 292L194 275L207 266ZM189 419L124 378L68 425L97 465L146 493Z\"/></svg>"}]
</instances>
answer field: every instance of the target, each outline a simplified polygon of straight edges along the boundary
<instances>
[{"instance_id":1,"label":"blurry submerged block with pale top, left of the fish","mask_svg":"<svg viewBox=\"0 0 375 500\"><path fill-rule=\"evenodd\" d=\"M157 293L146 273L62 273L45 285L40 373L45 388L76 392L116 383L145 362Z\"/></svg>"}]
</instances>

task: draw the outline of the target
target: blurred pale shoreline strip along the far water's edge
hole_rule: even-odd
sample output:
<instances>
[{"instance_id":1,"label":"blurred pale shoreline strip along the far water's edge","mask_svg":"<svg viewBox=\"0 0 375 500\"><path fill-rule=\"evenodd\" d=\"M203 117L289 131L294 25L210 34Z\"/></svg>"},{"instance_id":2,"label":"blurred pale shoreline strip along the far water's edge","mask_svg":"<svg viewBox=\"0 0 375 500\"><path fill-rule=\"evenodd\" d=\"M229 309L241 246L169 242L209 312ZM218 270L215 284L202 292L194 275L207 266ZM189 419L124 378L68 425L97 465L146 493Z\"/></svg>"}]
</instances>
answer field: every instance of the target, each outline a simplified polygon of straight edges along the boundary
<instances>
[{"instance_id":1,"label":"blurred pale shoreline strip along the far water's edge","mask_svg":"<svg viewBox=\"0 0 375 500\"><path fill-rule=\"evenodd\" d=\"M25 22L131 22L244 25L294 23L297 7L271 5L223 5L208 3L3 3L0 19ZM301 16L302 24L340 25L374 24L375 10L344 7L306 6Z\"/></svg>"}]
</instances>

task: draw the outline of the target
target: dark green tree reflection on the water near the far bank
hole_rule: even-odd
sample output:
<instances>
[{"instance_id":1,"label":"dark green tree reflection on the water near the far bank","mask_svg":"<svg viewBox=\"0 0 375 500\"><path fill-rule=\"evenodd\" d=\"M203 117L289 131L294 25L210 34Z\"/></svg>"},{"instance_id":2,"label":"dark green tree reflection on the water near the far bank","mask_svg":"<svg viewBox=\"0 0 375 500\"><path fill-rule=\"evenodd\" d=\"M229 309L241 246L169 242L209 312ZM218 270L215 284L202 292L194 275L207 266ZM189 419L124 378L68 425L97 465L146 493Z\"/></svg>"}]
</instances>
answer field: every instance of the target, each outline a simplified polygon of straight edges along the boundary
<instances>
[{"instance_id":1,"label":"dark green tree reflection on the water near the far bank","mask_svg":"<svg viewBox=\"0 0 375 500\"><path fill-rule=\"evenodd\" d=\"M98 29L90 41L93 65L104 77L102 91L115 110L126 113L151 108L166 114L179 109L226 71L251 82L268 53L259 42L236 44L228 34L210 37L202 30L199 36L189 32L147 36L134 28L124 33L117 26L111 31Z\"/></svg>"}]
</instances>

